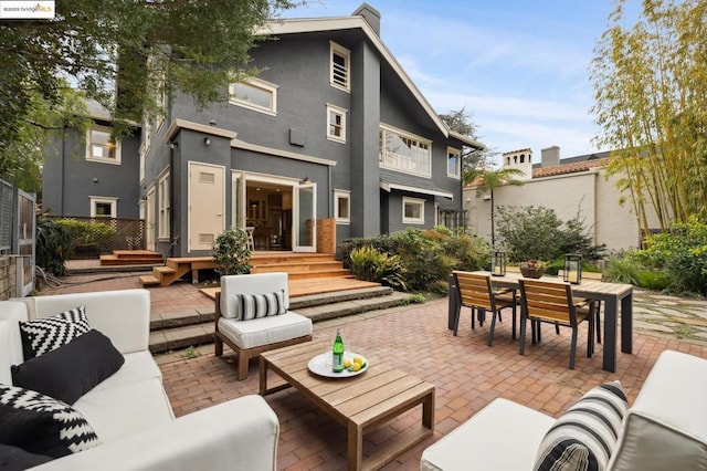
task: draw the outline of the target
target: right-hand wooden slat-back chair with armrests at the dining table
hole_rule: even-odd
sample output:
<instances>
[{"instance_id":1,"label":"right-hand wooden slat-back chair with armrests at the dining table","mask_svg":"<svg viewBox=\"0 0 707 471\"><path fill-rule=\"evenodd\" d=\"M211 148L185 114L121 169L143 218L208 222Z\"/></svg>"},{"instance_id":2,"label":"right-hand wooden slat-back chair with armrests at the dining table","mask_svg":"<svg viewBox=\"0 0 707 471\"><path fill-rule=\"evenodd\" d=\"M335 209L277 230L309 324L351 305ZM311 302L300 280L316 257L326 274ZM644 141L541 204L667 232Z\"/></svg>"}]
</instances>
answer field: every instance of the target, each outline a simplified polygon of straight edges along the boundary
<instances>
[{"instance_id":1,"label":"right-hand wooden slat-back chair with armrests at the dining table","mask_svg":"<svg viewBox=\"0 0 707 471\"><path fill-rule=\"evenodd\" d=\"M591 358L594 353L594 303L582 300L580 304L572 297L572 289L569 283L555 281L540 281L520 279L520 355L525 355L526 346L526 324L538 323L538 328L531 328L532 343L539 341L540 323L551 323L555 325L572 328L572 343L570 349L570 369L574 369L574 357L577 353L577 335L579 324L587 321L589 323L589 334L587 337L587 357Z\"/></svg>"}]
</instances>

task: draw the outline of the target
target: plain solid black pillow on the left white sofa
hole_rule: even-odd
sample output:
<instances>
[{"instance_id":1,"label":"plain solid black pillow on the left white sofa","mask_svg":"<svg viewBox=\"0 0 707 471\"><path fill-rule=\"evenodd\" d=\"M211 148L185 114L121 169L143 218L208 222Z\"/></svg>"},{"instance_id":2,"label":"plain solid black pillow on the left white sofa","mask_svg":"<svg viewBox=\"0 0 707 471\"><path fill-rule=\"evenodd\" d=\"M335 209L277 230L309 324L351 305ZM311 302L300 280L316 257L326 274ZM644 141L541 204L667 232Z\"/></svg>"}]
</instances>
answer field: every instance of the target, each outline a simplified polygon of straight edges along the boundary
<instances>
[{"instance_id":1,"label":"plain solid black pillow on the left white sofa","mask_svg":"<svg viewBox=\"0 0 707 471\"><path fill-rule=\"evenodd\" d=\"M12 383L74 404L124 363L110 339L93 329L42 356L12 365Z\"/></svg>"}]
</instances>

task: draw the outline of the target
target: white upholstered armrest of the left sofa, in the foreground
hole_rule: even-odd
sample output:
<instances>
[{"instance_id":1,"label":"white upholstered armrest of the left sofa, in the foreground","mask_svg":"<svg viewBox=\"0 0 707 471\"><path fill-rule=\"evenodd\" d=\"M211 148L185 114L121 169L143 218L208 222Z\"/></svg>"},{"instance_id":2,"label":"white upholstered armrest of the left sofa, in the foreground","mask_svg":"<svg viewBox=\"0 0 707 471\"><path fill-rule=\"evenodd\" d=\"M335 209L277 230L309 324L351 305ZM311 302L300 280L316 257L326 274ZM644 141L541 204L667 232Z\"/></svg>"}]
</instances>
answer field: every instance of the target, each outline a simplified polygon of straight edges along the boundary
<instances>
[{"instance_id":1,"label":"white upholstered armrest of the left sofa, in the foreground","mask_svg":"<svg viewBox=\"0 0 707 471\"><path fill-rule=\"evenodd\" d=\"M278 435L265 399L243 396L36 470L275 470Z\"/></svg>"}]
</instances>

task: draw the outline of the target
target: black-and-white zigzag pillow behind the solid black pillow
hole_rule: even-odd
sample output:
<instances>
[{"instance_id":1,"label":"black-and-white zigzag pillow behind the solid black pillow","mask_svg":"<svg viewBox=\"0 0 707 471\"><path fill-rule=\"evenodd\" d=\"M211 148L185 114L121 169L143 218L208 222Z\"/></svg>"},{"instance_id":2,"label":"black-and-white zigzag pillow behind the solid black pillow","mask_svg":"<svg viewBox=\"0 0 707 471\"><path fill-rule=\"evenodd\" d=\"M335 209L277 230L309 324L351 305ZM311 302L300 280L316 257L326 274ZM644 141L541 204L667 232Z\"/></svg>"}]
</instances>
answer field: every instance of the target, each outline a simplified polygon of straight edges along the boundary
<instances>
[{"instance_id":1,"label":"black-and-white zigzag pillow behind the solid black pillow","mask_svg":"<svg viewBox=\"0 0 707 471\"><path fill-rule=\"evenodd\" d=\"M24 360L66 345L91 331L84 306L64 311L51 317L20 322Z\"/></svg>"}]
</instances>

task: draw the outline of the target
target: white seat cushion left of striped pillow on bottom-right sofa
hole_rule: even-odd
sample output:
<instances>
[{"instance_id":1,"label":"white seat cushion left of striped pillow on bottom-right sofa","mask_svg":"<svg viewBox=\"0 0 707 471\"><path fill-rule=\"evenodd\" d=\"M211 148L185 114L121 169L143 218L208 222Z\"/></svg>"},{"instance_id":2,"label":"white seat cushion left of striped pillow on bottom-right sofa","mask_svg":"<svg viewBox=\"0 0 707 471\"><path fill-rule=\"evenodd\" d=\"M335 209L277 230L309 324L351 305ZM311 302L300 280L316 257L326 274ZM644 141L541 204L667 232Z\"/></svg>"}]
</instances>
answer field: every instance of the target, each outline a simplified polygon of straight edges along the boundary
<instances>
[{"instance_id":1,"label":"white seat cushion left of striped pillow on bottom-right sofa","mask_svg":"<svg viewBox=\"0 0 707 471\"><path fill-rule=\"evenodd\" d=\"M422 471L530 470L555 418L507 399L494 399L422 453Z\"/></svg>"}]
</instances>

